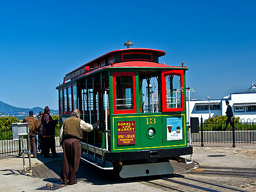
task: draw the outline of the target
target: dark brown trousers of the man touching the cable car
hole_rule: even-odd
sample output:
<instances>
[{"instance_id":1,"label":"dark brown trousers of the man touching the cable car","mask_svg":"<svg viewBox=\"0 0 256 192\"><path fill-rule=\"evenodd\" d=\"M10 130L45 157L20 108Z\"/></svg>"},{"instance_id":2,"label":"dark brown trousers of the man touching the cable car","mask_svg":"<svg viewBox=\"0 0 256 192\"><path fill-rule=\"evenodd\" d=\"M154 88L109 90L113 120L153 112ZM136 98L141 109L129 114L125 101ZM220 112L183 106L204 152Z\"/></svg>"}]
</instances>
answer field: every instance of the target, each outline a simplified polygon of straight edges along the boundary
<instances>
[{"instance_id":1,"label":"dark brown trousers of the man touching the cable car","mask_svg":"<svg viewBox=\"0 0 256 192\"><path fill-rule=\"evenodd\" d=\"M78 169L81 157L81 146L77 139L65 139L63 148L63 164L61 170L61 182L63 184L74 184L75 173Z\"/></svg>"}]
</instances>

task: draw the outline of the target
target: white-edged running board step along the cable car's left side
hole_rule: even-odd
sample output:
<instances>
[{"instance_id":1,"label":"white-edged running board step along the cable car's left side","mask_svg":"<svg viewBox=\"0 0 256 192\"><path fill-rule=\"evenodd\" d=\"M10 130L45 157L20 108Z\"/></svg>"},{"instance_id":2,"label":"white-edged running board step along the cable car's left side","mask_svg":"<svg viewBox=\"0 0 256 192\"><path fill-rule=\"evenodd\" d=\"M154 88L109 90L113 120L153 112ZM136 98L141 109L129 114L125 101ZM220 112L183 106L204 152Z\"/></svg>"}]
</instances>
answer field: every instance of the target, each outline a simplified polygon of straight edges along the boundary
<instances>
[{"instance_id":1,"label":"white-edged running board step along the cable car's left side","mask_svg":"<svg viewBox=\"0 0 256 192\"><path fill-rule=\"evenodd\" d=\"M109 161L105 161L104 163L102 162L101 158L95 157L93 155L83 153L81 155L81 159L95 167L98 167L100 169L105 169L105 170L112 170L113 165Z\"/></svg>"}]
</instances>

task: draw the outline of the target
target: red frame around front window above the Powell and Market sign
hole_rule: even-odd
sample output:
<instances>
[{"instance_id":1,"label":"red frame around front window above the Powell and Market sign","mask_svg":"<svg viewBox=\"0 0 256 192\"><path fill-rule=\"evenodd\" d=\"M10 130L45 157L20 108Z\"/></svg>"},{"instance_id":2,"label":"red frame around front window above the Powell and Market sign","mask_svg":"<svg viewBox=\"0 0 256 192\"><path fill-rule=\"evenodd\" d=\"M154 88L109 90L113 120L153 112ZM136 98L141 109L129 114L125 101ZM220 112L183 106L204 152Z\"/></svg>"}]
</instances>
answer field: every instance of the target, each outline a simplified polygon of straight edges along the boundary
<instances>
[{"instance_id":1,"label":"red frame around front window above the Powell and Market sign","mask_svg":"<svg viewBox=\"0 0 256 192\"><path fill-rule=\"evenodd\" d=\"M114 72L113 76L113 111L114 114L131 114L136 113L136 78L135 72ZM115 77L117 76L132 76L133 81L133 109L125 109L125 110L116 110L116 86L115 86Z\"/></svg>"}]
</instances>

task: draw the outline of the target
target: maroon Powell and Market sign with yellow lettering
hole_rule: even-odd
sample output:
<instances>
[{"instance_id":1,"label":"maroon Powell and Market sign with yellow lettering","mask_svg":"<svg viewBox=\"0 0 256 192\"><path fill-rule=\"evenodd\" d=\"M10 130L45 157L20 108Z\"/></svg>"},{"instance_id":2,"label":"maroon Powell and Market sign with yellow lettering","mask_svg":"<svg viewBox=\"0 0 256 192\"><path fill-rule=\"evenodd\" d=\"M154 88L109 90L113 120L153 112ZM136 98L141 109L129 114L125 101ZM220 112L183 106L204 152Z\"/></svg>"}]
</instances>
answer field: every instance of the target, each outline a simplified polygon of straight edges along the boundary
<instances>
[{"instance_id":1,"label":"maroon Powell and Market sign with yellow lettering","mask_svg":"<svg viewBox=\"0 0 256 192\"><path fill-rule=\"evenodd\" d=\"M117 122L117 145L136 144L135 120Z\"/></svg>"}]
</instances>

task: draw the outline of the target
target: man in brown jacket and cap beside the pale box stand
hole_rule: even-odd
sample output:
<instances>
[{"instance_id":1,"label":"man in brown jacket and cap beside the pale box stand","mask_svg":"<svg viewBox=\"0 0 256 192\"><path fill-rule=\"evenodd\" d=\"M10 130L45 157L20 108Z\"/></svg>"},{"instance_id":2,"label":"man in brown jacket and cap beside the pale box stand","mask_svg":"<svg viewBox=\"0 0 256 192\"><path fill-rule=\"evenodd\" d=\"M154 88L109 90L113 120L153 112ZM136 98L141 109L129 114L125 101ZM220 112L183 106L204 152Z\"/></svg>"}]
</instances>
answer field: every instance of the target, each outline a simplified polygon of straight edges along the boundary
<instances>
[{"instance_id":1,"label":"man in brown jacket and cap beside the pale box stand","mask_svg":"<svg viewBox=\"0 0 256 192\"><path fill-rule=\"evenodd\" d=\"M29 116L23 119L23 123L27 123L29 127L29 138L31 140L31 151L33 152L34 158L36 158L36 132L38 130L38 122L33 117L33 111L29 112Z\"/></svg>"}]
</instances>

